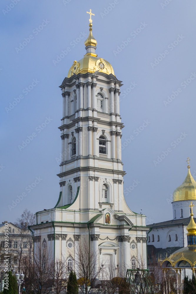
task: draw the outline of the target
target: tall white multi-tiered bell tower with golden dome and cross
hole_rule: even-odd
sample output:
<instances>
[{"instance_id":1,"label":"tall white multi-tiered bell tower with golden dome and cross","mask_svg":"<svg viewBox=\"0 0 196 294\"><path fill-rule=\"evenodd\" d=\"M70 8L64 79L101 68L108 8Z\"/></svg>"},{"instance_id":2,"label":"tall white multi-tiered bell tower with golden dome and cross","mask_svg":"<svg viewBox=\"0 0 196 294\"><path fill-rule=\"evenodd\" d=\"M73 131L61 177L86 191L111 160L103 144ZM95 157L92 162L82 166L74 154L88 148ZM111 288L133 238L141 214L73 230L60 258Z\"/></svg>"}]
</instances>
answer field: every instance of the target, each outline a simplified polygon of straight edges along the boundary
<instances>
[{"instance_id":1,"label":"tall white multi-tiered bell tower with golden dome and cross","mask_svg":"<svg viewBox=\"0 0 196 294\"><path fill-rule=\"evenodd\" d=\"M34 241L63 255L70 268L70 250L89 242L102 260L146 267L145 216L134 213L123 196L123 164L119 89L112 65L97 56L90 11L86 54L74 61L62 85L62 162L60 194L54 208L36 213ZM98 266L98 265L97 265Z\"/></svg>"}]
</instances>

